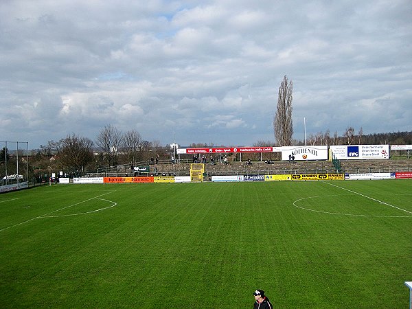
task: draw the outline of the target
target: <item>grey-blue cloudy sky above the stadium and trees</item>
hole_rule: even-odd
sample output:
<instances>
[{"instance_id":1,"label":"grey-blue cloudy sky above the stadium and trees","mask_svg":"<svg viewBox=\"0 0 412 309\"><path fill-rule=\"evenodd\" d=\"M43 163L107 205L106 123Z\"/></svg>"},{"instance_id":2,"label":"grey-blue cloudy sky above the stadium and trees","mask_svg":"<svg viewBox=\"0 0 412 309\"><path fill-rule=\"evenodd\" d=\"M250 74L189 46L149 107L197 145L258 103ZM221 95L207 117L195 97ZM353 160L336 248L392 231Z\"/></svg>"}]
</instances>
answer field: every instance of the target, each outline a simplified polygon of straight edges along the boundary
<instances>
[{"instance_id":1,"label":"grey-blue cloudy sky above the stadium and trees","mask_svg":"<svg viewBox=\"0 0 412 309\"><path fill-rule=\"evenodd\" d=\"M108 124L188 146L412 130L412 1L1 0L0 141Z\"/></svg>"}]
</instances>

